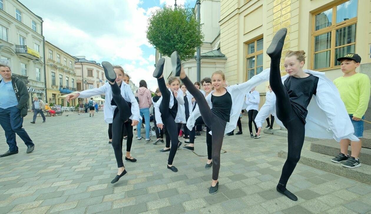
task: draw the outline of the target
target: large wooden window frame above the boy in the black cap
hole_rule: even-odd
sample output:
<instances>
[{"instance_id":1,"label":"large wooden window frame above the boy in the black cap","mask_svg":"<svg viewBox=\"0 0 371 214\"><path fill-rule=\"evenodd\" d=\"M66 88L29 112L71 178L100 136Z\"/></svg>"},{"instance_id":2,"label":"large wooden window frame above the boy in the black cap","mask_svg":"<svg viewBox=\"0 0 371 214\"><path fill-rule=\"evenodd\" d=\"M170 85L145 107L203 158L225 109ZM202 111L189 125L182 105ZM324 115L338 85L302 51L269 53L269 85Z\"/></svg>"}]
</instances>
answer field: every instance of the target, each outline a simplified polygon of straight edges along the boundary
<instances>
[{"instance_id":1,"label":"large wooden window frame above the boy in the black cap","mask_svg":"<svg viewBox=\"0 0 371 214\"><path fill-rule=\"evenodd\" d=\"M325 9L322 9L322 10L319 10L317 11L316 13L313 13L312 15L312 50L311 50L311 69L312 70L315 70L315 71L325 71L325 70L332 70L334 68L339 68L340 66L335 66L335 49L338 49L338 48L341 48L341 47L345 47L345 46L351 46L354 44L354 52L357 52L356 51L356 45L357 44L357 36L355 37L355 41L354 43L349 43L349 44L345 44L345 45L342 45L342 46L337 46L335 47L335 40L336 40L336 30L339 30L341 28L344 28L344 27L348 27L348 26L351 26L352 24L357 24L357 21L358 21L358 11L357 11L357 16L352 18L352 19L348 19L346 21L342 21L338 24L336 24L336 6L344 3L344 2L347 2L349 0L343 0L343 1L340 1L336 4L333 4L332 6L329 6L329 7L326 7ZM359 0L358 0L358 3L357 3L357 10L358 10L358 6L359 6ZM329 10L329 9L332 9L332 24L331 26L329 27L325 27L325 28L322 28L320 30L315 30L315 27L316 27L316 15L326 11L326 10ZM319 36L319 35L322 35L322 34L325 34L325 33L329 33L331 32L331 44L330 44L330 48L329 49L325 49L325 50L321 50L321 51L314 51L315 50L315 37L316 36ZM357 34L357 27L356 27L356 34ZM314 69L314 54L316 53L321 53L321 52L325 52L325 51L330 51L330 67L326 67L326 68L319 68L319 69Z\"/></svg>"}]
</instances>

